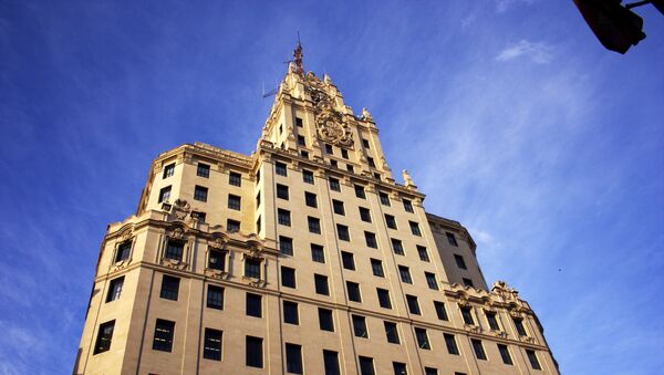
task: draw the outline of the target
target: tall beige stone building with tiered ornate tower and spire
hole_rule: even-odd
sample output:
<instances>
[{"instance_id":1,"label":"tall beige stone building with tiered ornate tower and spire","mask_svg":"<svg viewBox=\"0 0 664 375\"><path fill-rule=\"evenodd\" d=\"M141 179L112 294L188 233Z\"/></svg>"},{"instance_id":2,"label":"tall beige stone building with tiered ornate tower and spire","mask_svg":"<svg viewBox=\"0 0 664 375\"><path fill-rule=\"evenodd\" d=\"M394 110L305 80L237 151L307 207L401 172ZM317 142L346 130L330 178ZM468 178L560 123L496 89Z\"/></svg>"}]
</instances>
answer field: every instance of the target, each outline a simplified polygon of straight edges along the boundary
<instances>
[{"instance_id":1,"label":"tall beige stone building with tiered ornate tower and spire","mask_svg":"<svg viewBox=\"0 0 664 375\"><path fill-rule=\"evenodd\" d=\"M371 114L289 65L256 152L183 145L101 247L75 374L558 374Z\"/></svg>"}]
</instances>

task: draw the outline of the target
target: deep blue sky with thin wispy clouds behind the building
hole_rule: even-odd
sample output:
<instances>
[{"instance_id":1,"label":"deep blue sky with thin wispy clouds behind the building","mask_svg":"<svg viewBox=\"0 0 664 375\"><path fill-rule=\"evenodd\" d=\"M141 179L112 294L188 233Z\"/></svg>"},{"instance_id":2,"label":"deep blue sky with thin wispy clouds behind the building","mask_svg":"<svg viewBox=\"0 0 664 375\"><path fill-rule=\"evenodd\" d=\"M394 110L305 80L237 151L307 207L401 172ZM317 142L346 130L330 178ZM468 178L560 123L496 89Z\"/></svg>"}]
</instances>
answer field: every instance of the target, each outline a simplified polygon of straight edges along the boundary
<instances>
[{"instance_id":1,"label":"deep blue sky with thin wispy clouds behind the building","mask_svg":"<svg viewBox=\"0 0 664 375\"><path fill-rule=\"evenodd\" d=\"M664 367L664 18L571 1L0 1L0 373L70 373L106 225L183 143L250 153L299 30L564 374Z\"/></svg>"}]
</instances>

